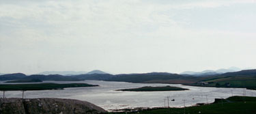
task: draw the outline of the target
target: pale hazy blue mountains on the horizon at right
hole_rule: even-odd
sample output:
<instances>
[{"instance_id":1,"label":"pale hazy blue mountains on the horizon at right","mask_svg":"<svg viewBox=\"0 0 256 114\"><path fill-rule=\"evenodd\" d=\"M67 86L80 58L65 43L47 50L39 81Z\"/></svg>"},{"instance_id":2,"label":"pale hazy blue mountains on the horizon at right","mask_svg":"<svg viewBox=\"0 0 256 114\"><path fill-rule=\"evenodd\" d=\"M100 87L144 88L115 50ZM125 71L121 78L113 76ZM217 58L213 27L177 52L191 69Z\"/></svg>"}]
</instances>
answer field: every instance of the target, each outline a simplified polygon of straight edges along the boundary
<instances>
[{"instance_id":1,"label":"pale hazy blue mountains on the horizon at right","mask_svg":"<svg viewBox=\"0 0 256 114\"><path fill-rule=\"evenodd\" d=\"M218 74L224 74L227 72L237 72L240 71L242 69L240 68L236 68L236 67L231 67L231 68L222 68L222 69L218 69L218 70L203 70L201 72L193 72L193 71L185 71L185 72L181 72L180 74L182 75L193 75L193 76L212 76L212 75L218 75Z\"/></svg>"}]
</instances>

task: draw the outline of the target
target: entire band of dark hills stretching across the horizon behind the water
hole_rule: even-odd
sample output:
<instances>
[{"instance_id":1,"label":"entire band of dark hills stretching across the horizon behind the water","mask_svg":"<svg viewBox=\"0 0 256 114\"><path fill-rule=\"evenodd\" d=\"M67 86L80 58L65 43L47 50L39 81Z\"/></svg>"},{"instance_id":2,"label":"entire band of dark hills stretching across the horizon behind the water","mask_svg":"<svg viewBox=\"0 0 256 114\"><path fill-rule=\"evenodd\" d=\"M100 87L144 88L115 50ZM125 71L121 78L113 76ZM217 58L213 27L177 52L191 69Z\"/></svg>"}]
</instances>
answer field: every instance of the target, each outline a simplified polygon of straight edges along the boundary
<instances>
[{"instance_id":1,"label":"entire band of dark hills stretching across the horizon behind the water","mask_svg":"<svg viewBox=\"0 0 256 114\"><path fill-rule=\"evenodd\" d=\"M208 74L198 76L191 74L173 74L168 72L150 72L143 74L106 74L100 70L94 70L87 74L78 74L72 76L63 76L59 74L33 74L25 75L22 73L3 74L0 76L0 81L8 80L22 80L22 79L40 79L41 81L83 81L83 80L98 80L98 81L123 81L130 83L173 83L173 84L188 84L205 81L208 79L216 79L233 76L256 76L256 70L241 70L238 72L226 72L221 74L214 74L216 70L205 70L201 74ZM222 70L224 71L224 70ZM227 70L226 70L227 71ZM230 71L230 70L229 70ZM188 72L189 73L189 72ZM211 75L209 75L211 74Z\"/></svg>"}]
</instances>

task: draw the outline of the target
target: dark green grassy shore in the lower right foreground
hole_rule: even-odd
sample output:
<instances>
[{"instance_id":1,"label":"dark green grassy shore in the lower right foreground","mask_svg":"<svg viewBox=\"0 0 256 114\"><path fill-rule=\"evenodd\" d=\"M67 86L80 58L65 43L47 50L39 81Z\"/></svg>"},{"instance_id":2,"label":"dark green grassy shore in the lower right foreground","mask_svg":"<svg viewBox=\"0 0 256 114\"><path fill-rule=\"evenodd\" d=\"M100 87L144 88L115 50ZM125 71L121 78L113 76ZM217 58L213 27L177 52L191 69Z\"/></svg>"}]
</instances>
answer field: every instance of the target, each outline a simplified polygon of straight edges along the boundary
<instances>
[{"instance_id":1,"label":"dark green grassy shore in the lower right foreground","mask_svg":"<svg viewBox=\"0 0 256 114\"><path fill-rule=\"evenodd\" d=\"M126 113L126 112L120 112ZM219 100L212 104L205 104L202 106L189 106L186 108L158 108L147 109L145 111L134 111L128 113L140 114L254 114L256 113L256 98L233 96L231 98ZM114 114L114 113L110 113Z\"/></svg>"}]
</instances>

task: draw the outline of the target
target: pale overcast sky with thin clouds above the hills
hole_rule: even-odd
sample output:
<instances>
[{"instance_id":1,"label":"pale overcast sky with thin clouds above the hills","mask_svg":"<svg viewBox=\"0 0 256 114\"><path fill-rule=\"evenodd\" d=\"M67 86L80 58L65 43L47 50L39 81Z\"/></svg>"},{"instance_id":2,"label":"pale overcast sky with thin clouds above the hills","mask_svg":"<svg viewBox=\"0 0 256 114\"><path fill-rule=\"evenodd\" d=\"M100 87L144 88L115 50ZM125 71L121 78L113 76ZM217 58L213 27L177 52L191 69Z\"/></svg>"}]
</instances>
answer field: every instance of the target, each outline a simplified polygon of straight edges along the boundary
<instances>
[{"instance_id":1,"label":"pale overcast sky with thin clouds above the hills","mask_svg":"<svg viewBox=\"0 0 256 114\"><path fill-rule=\"evenodd\" d=\"M0 0L0 73L179 73L255 58L255 0Z\"/></svg>"}]
</instances>

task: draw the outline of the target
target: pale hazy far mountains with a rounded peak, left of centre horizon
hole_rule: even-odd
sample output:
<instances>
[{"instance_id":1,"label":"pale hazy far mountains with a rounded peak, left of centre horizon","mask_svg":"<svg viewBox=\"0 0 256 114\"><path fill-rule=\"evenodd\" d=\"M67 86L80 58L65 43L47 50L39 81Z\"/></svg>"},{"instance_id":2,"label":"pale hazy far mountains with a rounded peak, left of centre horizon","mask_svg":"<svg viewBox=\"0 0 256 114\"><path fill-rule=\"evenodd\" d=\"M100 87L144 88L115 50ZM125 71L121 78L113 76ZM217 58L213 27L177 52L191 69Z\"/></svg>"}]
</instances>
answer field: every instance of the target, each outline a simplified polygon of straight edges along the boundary
<instances>
[{"instance_id":1,"label":"pale hazy far mountains with a rounded peak, left of centre horizon","mask_svg":"<svg viewBox=\"0 0 256 114\"><path fill-rule=\"evenodd\" d=\"M50 74L59 74L63 76L74 76L79 74L107 74L106 72L102 72L100 70L93 70L91 72L85 72L85 71L44 71L40 72L38 74L43 75L50 75Z\"/></svg>"}]
</instances>

